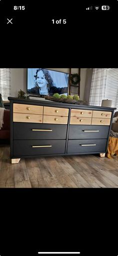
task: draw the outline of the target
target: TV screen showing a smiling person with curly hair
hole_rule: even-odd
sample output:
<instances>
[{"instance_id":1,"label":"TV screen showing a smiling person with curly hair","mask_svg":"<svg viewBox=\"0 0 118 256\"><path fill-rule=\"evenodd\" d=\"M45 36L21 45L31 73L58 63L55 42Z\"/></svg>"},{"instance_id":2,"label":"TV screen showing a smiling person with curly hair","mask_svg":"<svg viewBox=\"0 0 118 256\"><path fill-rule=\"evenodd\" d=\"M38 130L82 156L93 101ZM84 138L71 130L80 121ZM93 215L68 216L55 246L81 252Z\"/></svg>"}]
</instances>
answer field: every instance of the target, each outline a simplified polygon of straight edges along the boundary
<instances>
[{"instance_id":1,"label":"TV screen showing a smiling person with curly hair","mask_svg":"<svg viewBox=\"0 0 118 256\"><path fill-rule=\"evenodd\" d=\"M27 69L27 93L31 95L67 95L68 81L68 73L44 68Z\"/></svg>"}]
</instances>

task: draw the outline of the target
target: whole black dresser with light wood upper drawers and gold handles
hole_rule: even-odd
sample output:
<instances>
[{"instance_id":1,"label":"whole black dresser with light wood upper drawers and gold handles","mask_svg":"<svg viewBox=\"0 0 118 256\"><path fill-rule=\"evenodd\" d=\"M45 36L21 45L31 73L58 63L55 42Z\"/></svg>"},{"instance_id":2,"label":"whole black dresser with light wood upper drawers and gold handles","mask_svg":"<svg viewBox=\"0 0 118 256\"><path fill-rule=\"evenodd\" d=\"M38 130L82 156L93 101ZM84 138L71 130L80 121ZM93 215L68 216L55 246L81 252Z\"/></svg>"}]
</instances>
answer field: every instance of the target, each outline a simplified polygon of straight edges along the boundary
<instances>
[{"instance_id":1,"label":"whole black dresser with light wood upper drawers and gold handles","mask_svg":"<svg viewBox=\"0 0 118 256\"><path fill-rule=\"evenodd\" d=\"M116 108L8 99L11 163L39 156L105 156Z\"/></svg>"}]
</instances>

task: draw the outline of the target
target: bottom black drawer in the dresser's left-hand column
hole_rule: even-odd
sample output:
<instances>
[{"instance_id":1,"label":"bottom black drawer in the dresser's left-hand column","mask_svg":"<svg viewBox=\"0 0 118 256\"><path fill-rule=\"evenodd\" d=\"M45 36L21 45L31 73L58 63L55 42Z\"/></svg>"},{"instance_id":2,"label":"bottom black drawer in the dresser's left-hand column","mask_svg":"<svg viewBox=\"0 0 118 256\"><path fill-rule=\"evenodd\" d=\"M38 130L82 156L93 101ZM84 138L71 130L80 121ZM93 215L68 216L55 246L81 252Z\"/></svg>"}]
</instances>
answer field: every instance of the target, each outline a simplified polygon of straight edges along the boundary
<instances>
[{"instance_id":1,"label":"bottom black drawer in the dresser's left-hand column","mask_svg":"<svg viewBox=\"0 0 118 256\"><path fill-rule=\"evenodd\" d=\"M41 146L41 147L35 147ZM48 146L48 147L45 147ZM64 154L65 140L14 140L13 156Z\"/></svg>"}]
</instances>

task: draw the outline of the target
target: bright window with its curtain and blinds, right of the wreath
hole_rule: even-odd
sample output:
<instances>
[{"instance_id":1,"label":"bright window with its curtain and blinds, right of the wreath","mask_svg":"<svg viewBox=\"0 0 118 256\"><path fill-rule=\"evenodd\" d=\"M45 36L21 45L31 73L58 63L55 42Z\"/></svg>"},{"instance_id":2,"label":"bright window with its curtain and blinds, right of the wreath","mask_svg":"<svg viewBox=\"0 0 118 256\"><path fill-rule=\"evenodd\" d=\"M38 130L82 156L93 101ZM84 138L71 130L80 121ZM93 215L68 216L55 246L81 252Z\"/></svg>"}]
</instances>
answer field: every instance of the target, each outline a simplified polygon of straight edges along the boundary
<instances>
[{"instance_id":1,"label":"bright window with its curtain and blinds, right of the wreath","mask_svg":"<svg viewBox=\"0 0 118 256\"><path fill-rule=\"evenodd\" d=\"M112 100L118 110L118 68L93 69L89 104L101 106L102 99Z\"/></svg>"}]
</instances>

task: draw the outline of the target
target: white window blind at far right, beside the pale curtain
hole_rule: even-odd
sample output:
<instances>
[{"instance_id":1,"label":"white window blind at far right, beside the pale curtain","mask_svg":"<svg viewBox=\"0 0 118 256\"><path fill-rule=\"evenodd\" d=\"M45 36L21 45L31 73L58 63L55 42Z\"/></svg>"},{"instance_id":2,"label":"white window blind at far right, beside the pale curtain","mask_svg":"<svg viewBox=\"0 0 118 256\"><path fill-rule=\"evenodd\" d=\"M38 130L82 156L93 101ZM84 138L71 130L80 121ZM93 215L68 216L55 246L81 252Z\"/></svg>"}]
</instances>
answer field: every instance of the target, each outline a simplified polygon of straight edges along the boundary
<instances>
[{"instance_id":1,"label":"white window blind at far right, beside the pale curtain","mask_svg":"<svg viewBox=\"0 0 118 256\"><path fill-rule=\"evenodd\" d=\"M111 99L112 107L118 111L118 68L106 69L104 99Z\"/></svg>"}]
</instances>

